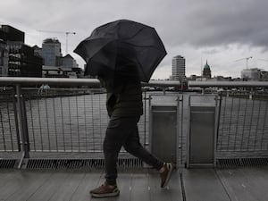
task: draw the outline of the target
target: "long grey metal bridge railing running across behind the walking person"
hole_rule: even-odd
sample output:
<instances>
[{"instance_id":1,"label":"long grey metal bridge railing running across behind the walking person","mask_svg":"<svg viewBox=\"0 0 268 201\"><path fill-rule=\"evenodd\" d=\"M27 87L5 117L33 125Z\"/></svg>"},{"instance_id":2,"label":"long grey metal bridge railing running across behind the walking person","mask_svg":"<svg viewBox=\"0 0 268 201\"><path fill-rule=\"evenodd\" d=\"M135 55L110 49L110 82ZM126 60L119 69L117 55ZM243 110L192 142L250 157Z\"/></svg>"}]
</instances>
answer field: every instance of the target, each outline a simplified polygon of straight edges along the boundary
<instances>
[{"instance_id":1,"label":"long grey metal bridge railing running across behind the walking person","mask_svg":"<svg viewBox=\"0 0 268 201\"><path fill-rule=\"evenodd\" d=\"M43 88L39 88L43 85ZM50 88L44 88L45 85ZM105 92L98 80L0 78L0 152L85 153L94 157L102 152L108 121ZM144 87L179 87L179 81L150 81ZM34 88L33 88L34 87ZM194 82L188 87L267 88L268 82ZM253 90L249 90L251 93ZM138 127L141 142L148 145L150 96L144 92L144 115ZM180 101L180 163L187 155L188 94L170 92ZM250 94L252 95L252 94ZM157 100L156 100L157 101ZM218 98L219 119L216 157L268 157L268 101L227 96ZM184 104L183 104L184 102ZM121 153L124 153L122 151ZM88 157L90 157L88 156Z\"/></svg>"}]
</instances>

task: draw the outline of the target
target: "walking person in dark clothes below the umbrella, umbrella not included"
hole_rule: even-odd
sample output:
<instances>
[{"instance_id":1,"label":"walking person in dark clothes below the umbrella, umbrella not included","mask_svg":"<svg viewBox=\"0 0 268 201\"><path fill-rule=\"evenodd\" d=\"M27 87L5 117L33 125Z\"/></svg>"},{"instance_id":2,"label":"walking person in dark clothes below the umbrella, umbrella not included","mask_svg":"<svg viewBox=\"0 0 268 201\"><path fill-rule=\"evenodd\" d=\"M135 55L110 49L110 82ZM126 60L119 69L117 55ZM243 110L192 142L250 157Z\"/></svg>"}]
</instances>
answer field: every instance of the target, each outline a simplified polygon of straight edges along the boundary
<instances>
[{"instance_id":1,"label":"walking person in dark clothes below the umbrella, umbrella not included","mask_svg":"<svg viewBox=\"0 0 268 201\"><path fill-rule=\"evenodd\" d=\"M130 68L131 69L131 68ZM135 69L135 68L133 68ZM106 108L110 121L103 143L105 155L105 182L90 190L92 197L116 197L117 159L121 147L127 152L153 166L160 174L161 188L167 186L172 175L172 163L164 163L142 147L138 136L138 121L143 113L142 90L138 77L114 77L113 80L99 77L106 88Z\"/></svg>"}]
</instances>

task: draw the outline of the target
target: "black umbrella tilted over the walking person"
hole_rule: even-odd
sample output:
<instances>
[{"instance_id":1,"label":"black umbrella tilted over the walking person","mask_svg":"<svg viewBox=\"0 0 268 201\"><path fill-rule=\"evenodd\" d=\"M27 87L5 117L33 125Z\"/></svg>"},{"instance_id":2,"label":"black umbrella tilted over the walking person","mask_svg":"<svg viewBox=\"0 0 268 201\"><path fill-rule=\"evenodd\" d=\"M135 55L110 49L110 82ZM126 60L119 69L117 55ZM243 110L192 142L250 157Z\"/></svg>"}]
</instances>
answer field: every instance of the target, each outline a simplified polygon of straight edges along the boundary
<instances>
[{"instance_id":1,"label":"black umbrella tilted over the walking person","mask_svg":"<svg viewBox=\"0 0 268 201\"><path fill-rule=\"evenodd\" d=\"M86 61L85 75L137 77L149 81L166 51L155 29L128 20L93 30L74 50Z\"/></svg>"}]
</instances>

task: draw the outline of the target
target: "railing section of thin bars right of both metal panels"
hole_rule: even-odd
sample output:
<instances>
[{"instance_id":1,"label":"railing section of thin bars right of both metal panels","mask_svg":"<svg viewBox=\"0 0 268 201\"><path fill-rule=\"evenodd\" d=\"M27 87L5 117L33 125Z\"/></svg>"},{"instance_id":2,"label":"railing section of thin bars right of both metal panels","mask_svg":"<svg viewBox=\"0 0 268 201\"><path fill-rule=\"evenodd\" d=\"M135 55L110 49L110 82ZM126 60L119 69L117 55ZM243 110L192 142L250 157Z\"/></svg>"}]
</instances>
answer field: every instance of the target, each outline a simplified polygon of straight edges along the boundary
<instances>
[{"instance_id":1,"label":"railing section of thin bars right of both metal panels","mask_svg":"<svg viewBox=\"0 0 268 201\"><path fill-rule=\"evenodd\" d=\"M221 96L216 151L222 157L268 155L268 101Z\"/></svg>"}]
</instances>

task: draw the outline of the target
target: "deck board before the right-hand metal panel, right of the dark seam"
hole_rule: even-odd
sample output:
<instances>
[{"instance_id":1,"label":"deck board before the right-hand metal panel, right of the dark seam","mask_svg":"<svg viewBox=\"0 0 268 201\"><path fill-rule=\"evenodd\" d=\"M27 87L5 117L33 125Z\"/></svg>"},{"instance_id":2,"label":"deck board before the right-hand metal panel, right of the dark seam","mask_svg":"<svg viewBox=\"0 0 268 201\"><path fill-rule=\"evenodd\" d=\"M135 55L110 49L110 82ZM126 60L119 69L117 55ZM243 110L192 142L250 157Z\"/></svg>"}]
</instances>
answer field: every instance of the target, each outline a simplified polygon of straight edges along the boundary
<instances>
[{"instance_id":1,"label":"deck board before the right-hand metal panel, right of the dark seam","mask_svg":"<svg viewBox=\"0 0 268 201\"><path fill-rule=\"evenodd\" d=\"M212 169L183 171L186 200L230 201L221 180Z\"/></svg>"}]
</instances>

